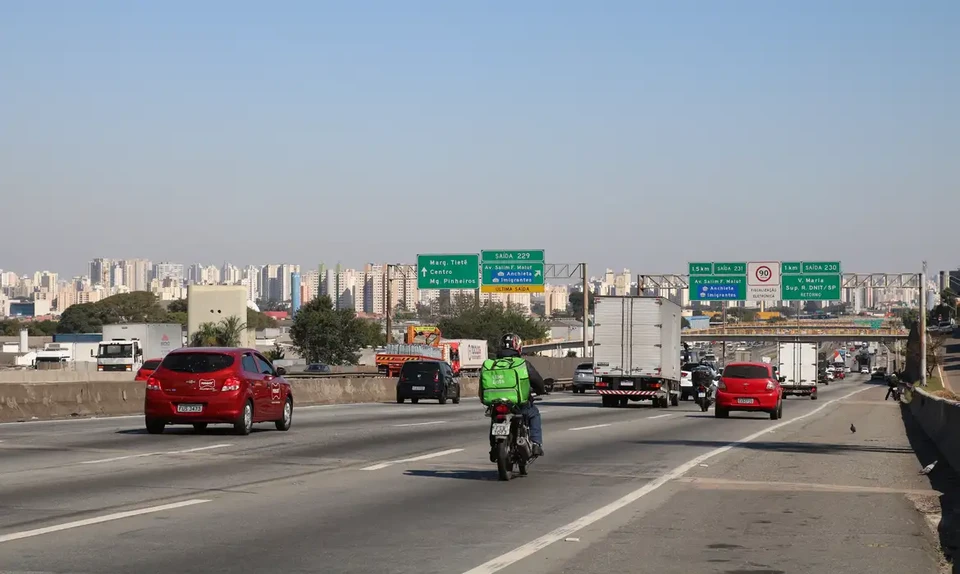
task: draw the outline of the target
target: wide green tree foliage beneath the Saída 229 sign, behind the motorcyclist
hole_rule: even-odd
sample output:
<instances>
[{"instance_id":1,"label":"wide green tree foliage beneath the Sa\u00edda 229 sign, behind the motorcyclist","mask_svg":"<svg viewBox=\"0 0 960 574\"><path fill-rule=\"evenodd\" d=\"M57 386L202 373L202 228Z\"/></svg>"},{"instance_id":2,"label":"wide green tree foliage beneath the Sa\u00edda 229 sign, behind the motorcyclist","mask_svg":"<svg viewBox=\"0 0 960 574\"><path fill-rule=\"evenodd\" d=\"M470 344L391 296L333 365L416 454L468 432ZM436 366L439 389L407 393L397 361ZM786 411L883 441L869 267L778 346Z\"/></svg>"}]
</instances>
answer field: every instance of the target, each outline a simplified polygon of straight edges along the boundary
<instances>
[{"instance_id":1,"label":"wide green tree foliage beneath the Sa\u00edda 229 sign, behind the motorcyclist","mask_svg":"<svg viewBox=\"0 0 960 574\"><path fill-rule=\"evenodd\" d=\"M459 306L437 326L448 339L485 339L491 352L496 351L505 333L516 333L525 341L547 336L542 321L526 316L517 307L493 302Z\"/></svg>"}]
</instances>

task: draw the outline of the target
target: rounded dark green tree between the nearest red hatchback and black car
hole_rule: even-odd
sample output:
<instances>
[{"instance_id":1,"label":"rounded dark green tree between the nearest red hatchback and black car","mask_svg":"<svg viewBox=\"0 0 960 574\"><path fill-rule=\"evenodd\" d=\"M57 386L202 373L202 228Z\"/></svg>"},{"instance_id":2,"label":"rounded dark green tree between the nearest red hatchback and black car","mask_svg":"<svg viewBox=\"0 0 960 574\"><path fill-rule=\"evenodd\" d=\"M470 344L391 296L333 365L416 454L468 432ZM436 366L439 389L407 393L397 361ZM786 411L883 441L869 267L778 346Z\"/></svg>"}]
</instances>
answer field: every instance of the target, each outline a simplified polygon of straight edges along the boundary
<instances>
[{"instance_id":1,"label":"rounded dark green tree between the nearest red hatchback and black car","mask_svg":"<svg viewBox=\"0 0 960 574\"><path fill-rule=\"evenodd\" d=\"M308 363L356 365L369 334L353 309L334 309L323 295L300 308L290 327L290 338Z\"/></svg>"}]
</instances>

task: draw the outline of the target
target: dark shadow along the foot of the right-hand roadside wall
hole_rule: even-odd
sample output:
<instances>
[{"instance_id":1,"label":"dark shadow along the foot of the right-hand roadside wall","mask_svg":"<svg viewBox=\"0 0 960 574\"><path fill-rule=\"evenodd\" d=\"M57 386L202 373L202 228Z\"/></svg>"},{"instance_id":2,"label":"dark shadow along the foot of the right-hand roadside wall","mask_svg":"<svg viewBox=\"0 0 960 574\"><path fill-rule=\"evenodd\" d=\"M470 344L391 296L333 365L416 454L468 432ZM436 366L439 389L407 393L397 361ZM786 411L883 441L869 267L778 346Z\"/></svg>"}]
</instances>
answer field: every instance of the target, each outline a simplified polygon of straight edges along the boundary
<instances>
[{"instance_id":1,"label":"dark shadow along the foot of the right-hand roadside wall","mask_svg":"<svg viewBox=\"0 0 960 574\"><path fill-rule=\"evenodd\" d=\"M923 468L935 460L938 461L937 466L927 475L927 479L930 480L930 488L941 493L941 519L937 531L944 556L953 561L960 546L960 475L950 467L946 458L937 450L937 446L914 420L908 405L900 405L900 416L907 432L907 440L910 441L910 446L917 456L919 465L917 468ZM954 563L953 572L960 571L958 566L960 565Z\"/></svg>"}]
</instances>

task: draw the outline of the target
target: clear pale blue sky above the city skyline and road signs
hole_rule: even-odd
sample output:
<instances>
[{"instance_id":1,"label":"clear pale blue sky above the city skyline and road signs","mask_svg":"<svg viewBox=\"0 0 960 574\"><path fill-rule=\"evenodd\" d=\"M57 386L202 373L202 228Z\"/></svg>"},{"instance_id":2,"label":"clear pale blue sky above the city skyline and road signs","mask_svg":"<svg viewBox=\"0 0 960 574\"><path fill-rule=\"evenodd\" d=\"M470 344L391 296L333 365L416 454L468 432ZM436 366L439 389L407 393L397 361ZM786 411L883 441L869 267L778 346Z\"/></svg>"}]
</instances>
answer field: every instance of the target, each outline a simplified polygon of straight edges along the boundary
<instances>
[{"instance_id":1,"label":"clear pale blue sky above the city skyline and road signs","mask_svg":"<svg viewBox=\"0 0 960 574\"><path fill-rule=\"evenodd\" d=\"M954 267L958 21L949 0L6 1L0 267Z\"/></svg>"}]
</instances>

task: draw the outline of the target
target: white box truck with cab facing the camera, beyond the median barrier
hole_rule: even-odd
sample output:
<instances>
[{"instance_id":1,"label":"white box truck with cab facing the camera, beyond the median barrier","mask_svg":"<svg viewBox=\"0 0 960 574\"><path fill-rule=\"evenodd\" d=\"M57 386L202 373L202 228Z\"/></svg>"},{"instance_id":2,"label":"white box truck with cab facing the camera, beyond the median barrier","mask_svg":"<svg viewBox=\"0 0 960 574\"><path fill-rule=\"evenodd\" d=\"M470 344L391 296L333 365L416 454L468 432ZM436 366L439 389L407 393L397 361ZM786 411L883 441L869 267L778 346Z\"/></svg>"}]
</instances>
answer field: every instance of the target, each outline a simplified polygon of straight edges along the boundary
<instances>
[{"instance_id":1,"label":"white box truck with cab facing the camera, beyond the median barrier","mask_svg":"<svg viewBox=\"0 0 960 574\"><path fill-rule=\"evenodd\" d=\"M104 325L97 347L97 371L133 371L147 359L162 359L183 346L179 323Z\"/></svg>"}]
</instances>

